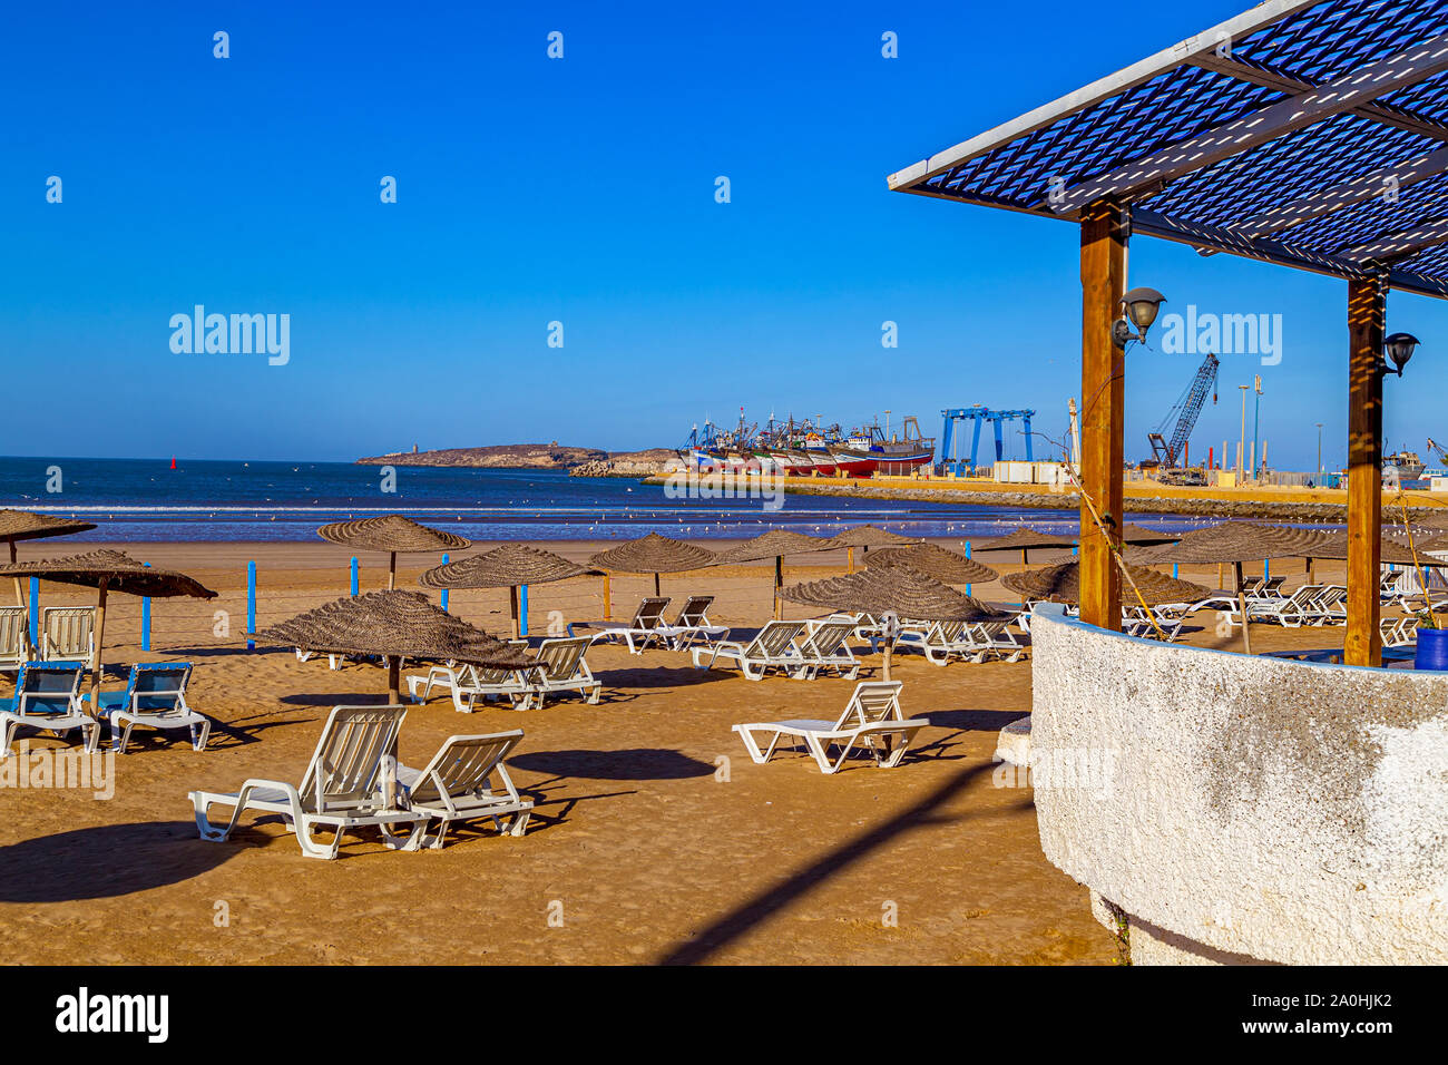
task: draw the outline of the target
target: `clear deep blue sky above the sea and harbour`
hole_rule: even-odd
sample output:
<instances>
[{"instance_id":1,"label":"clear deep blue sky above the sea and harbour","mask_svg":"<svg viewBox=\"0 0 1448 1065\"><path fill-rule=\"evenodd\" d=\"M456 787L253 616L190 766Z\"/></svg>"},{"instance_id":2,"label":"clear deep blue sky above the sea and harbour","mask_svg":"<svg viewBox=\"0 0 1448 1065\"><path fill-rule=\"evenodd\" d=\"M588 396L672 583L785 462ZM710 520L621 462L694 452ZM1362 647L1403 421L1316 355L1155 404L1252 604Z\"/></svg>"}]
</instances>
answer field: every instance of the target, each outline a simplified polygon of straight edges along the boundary
<instances>
[{"instance_id":1,"label":"clear deep blue sky above the sea and harbour","mask_svg":"<svg viewBox=\"0 0 1448 1065\"><path fill-rule=\"evenodd\" d=\"M1118 0L1090 46L1067 0L12 6L0 454L623 449L741 404L931 433L941 407L1034 407L1061 433L1076 227L885 175L1244 6ZM1342 462L1344 283L1148 239L1131 271L1169 309L1283 314L1281 365L1228 356L1195 449L1235 442L1261 372L1273 464L1310 468L1315 422ZM291 314L291 362L172 354L195 303ZM1423 339L1389 443L1422 449L1448 436L1448 306L1394 294L1389 326ZM1128 456L1196 362L1132 351Z\"/></svg>"}]
</instances>

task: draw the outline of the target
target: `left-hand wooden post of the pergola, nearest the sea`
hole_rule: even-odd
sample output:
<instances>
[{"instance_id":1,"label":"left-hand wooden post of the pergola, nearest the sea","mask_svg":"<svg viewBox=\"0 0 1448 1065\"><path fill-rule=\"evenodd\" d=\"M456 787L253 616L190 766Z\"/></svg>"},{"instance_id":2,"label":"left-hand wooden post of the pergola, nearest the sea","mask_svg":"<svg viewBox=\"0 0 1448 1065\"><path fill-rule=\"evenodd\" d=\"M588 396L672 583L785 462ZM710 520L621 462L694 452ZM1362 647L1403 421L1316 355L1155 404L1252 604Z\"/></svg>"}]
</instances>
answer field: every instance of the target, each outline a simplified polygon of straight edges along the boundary
<instances>
[{"instance_id":1,"label":"left-hand wooden post of the pergola, nearest the sea","mask_svg":"<svg viewBox=\"0 0 1448 1065\"><path fill-rule=\"evenodd\" d=\"M1082 490L1096 506L1106 532L1080 511L1082 620L1121 629L1121 571L1112 542L1121 546L1122 439L1125 435L1125 358L1112 339L1127 287L1127 236L1121 207L1098 200L1082 212ZM1108 540L1109 538L1109 540ZM1024 561L1024 559L1022 559Z\"/></svg>"}]
</instances>

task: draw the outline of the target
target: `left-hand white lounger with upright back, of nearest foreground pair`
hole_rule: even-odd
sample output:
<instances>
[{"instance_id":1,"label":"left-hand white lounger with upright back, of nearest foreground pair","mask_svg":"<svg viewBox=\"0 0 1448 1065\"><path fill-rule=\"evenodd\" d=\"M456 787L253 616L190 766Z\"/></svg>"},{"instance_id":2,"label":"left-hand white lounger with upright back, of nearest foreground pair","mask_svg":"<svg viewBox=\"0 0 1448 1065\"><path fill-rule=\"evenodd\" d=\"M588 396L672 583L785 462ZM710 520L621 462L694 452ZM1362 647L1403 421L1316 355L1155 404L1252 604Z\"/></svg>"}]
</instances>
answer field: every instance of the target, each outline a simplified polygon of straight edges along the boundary
<instances>
[{"instance_id":1,"label":"left-hand white lounger with upright back, of nearest foreground pair","mask_svg":"<svg viewBox=\"0 0 1448 1065\"><path fill-rule=\"evenodd\" d=\"M392 835L395 824L417 824L424 814L398 806L397 733L407 710L400 706L336 706L327 714L317 749L301 775L301 784L248 780L240 791L193 791L195 827L201 839L223 842L248 810L281 814L297 835L307 858L336 858L348 829L376 826L391 848L407 840ZM230 806L232 819L213 824L211 806ZM311 838L314 829L333 829L330 843Z\"/></svg>"}]
</instances>

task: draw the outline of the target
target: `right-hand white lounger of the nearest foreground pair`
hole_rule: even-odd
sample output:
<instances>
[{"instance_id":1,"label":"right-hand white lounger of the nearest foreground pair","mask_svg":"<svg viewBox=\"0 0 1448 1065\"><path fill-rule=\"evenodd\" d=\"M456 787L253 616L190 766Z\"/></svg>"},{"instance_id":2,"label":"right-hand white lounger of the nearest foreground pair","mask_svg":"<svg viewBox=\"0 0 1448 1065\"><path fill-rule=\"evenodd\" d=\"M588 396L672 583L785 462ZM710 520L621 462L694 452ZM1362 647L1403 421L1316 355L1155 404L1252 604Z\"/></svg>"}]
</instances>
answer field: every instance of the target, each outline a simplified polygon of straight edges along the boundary
<instances>
[{"instance_id":1,"label":"right-hand white lounger of the nearest foreground pair","mask_svg":"<svg viewBox=\"0 0 1448 1065\"><path fill-rule=\"evenodd\" d=\"M421 769L398 765L403 801L413 813L427 816L408 836L404 849L440 848L450 823L475 817L491 817L498 832L521 836L529 827L533 800L518 794L502 764L520 739L521 729L487 736L449 736ZM507 826L504 817L508 817ZM427 829L434 819L437 835L430 836Z\"/></svg>"}]
</instances>

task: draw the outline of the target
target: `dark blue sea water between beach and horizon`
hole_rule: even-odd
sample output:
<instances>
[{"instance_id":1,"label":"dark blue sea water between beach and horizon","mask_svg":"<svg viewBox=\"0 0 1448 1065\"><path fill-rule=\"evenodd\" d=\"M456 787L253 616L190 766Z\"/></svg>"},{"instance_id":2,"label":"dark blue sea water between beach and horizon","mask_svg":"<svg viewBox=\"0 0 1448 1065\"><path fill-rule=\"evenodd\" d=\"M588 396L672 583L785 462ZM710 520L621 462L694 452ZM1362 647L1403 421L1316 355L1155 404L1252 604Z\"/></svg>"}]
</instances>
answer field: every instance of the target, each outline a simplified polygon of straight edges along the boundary
<instances>
[{"instance_id":1,"label":"dark blue sea water between beach and horizon","mask_svg":"<svg viewBox=\"0 0 1448 1065\"><path fill-rule=\"evenodd\" d=\"M995 536L1028 523L1076 527L1074 510L1018 510L917 501L785 496L669 498L660 485L569 477L555 469L397 467L382 491L379 467L348 462L0 458L0 506L96 522L88 540L316 540L316 529L403 513L475 540L686 539L757 536L769 529L833 535L872 523L917 536ZM1132 516L1134 522L1150 522ZM1160 522L1183 527L1182 520Z\"/></svg>"}]
</instances>

